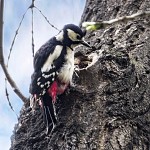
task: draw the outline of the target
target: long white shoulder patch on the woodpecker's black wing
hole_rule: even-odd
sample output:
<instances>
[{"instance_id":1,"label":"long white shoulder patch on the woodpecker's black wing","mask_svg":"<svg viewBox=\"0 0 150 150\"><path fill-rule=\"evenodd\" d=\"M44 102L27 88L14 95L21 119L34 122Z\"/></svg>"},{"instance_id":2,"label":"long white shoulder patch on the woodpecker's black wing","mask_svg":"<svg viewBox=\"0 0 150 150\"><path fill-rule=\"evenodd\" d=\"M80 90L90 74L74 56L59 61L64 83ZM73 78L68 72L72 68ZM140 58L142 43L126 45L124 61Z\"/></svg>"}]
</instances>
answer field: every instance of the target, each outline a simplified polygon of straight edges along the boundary
<instances>
[{"instance_id":1,"label":"long white shoulder patch on the woodpecker's black wing","mask_svg":"<svg viewBox=\"0 0 150 150\"><path fill-rule=\"evenodd\" d=\"M60 56L62 49L63 47L61 45L57 45L55 47L55 50L53 51L52 54L49 55L43 67L41 68L42 72L48 72L53 67L52 66L53 61L56 60Z\"/></svg>"}]
</instances>

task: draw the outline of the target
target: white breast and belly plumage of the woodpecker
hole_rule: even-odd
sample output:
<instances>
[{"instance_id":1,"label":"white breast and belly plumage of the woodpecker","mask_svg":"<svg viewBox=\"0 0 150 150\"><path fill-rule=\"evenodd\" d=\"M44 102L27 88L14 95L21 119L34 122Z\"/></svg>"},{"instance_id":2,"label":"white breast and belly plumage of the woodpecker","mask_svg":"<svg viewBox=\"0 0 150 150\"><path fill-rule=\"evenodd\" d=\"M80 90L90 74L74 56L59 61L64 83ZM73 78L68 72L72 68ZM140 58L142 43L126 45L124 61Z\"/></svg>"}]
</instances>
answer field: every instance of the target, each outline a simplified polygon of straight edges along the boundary
<instances>
[{"instance_id":1,"label":"white breast and belly plumage of the woodpecker","mask_svg":"<svg viewBox=\"0 0 150 150\"><path fill-rule=\"evenodd\" d=\"M69 83L72 81L74 71L74 51L67 47L67 54L65 56L65 63L63 64L63 67L61 68L58 79L61 82Z\"/></svg>"}]
</instances>

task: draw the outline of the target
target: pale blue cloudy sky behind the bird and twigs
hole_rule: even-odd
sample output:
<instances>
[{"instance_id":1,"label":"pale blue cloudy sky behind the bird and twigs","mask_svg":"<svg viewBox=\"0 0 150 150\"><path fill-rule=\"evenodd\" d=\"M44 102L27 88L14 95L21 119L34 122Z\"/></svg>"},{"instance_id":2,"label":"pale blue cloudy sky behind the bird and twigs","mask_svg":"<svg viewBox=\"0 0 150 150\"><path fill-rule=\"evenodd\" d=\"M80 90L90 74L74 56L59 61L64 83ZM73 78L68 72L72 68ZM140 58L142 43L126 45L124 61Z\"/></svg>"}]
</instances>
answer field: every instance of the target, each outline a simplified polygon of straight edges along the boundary
<instances>
[{"instance_id":1,"label":"pale blue cloudy sky behind the bird and twigs","mask_svg":"<svg viewBox=\"0 0 150 150\"><path fill-rule=\"evenodd\" d=\"M42 10L50 23L58 29L62 29L65 24L73 23L78 25L86 0L35 0L35 6ZM19 22L30 6L31 0L5 0L4 7L4 56L5 61L9 54ZM34 44L35 51L40 48L49 38L56 35L57 30L52 28L34 9ZM16 41L14 43L8 70L22 93L29 97L30 77L33 72L33 57L31 46L31 10L29 9ZM19 115L23 105L19 97L13 92L9 83L7 84L9 99ZM17 123L15 113L10 109L5 94L5 76L0 67L0 149L8 150L11 145L10 137Z\"/></svg>"}]
</instances>

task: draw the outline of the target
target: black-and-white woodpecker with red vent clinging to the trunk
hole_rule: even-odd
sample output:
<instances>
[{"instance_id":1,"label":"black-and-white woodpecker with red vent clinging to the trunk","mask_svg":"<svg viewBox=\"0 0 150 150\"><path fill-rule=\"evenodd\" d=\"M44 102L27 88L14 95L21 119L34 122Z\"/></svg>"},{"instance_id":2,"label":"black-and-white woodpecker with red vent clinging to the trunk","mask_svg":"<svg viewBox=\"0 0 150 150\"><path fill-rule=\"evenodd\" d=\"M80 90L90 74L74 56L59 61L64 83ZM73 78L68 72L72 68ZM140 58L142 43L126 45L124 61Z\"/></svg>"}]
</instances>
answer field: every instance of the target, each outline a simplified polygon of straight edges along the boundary
<instances>
[{"instance_id":1,"label":"black-and-white woodpecker with red vent clinging to the trunk","mask_svg":"<svg viewBox=\"0 0 150 150\"><path fill-rule=\"evenodd\" d=\"M57 120L53 104L70 84L74 72L74 50L79 44L90 47L82 40L85 33L76 25L67 24L46 42L35 54L34 73L31 76L31 101L40 101L46 123L46 133Z\"/></svg>"}]
</instances>

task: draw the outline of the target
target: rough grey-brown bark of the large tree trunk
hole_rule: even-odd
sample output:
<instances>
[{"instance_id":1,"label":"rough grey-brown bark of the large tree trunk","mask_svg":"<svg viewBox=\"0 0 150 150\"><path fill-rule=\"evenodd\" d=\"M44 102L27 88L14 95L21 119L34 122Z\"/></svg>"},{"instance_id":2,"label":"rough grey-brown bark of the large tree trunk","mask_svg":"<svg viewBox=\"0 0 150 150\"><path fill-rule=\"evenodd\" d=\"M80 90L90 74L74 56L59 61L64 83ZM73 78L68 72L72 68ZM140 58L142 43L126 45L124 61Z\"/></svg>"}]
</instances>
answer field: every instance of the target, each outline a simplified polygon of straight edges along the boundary
<instances>
[{"instance_id":1,"label":"rough grey-brown bark of the large tree trunk","mask_svg":"<svg viewBox=\"0 0 150 150\"><path fill-rule=\"evenodd\" d=\"M110 20L150 9L149 0L87 0L81 21ZM25 104L11 150L149 150L150 19L88 32L95 50L77 49L98 61L74 76L75 87L59 97L58 125L48 136L40 110ZM95 57L93 57L94 60Z\"/></svg>"}]
</instances>

